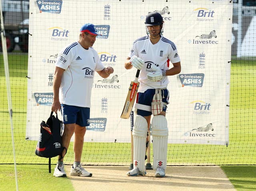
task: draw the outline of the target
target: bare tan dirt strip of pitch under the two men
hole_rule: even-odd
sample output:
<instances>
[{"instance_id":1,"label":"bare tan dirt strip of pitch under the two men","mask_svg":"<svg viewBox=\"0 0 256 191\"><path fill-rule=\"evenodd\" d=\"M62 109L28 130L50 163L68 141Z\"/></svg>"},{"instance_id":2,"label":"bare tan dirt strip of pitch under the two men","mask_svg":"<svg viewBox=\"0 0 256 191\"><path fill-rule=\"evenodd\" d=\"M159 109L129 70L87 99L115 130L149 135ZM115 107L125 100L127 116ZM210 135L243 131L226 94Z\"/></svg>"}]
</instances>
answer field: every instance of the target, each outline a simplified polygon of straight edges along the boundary
<instances>
[{"instance_id":1,"label":"bare tan dirt strip of pitch under the two men","mask_svg":"<svg viewBox=\"0 0 256 191\"><path fill-rule=\"evenodd\" d=\"M218 166L168 166L166 177L154 177L154 170L146 176L128 177L128 166L83 166L92 177L70 177L76 191L236 191Z\"/></svg>"}]
</instances>

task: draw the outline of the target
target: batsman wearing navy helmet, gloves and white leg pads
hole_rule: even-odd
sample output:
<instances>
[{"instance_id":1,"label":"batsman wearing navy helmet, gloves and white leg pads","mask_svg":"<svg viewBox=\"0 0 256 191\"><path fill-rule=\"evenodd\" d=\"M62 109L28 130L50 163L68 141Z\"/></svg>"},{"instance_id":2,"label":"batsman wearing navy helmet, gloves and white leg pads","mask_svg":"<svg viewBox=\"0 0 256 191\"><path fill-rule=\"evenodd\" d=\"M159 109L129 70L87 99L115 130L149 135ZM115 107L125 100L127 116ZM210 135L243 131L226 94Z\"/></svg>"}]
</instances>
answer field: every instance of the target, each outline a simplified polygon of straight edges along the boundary
<instances>
[{"instance_id":1,"label":"batsman wearing navy helmet, gloves and white leg pads","mask_svg":"<svg viewBox=\"0 0 256 191\"><path fill-rule=\"evenodd\" d=\"M162 36L164 21L157 12L146 16L147 36L134 41L124 67L140 70L138 94L135 103L135 123L133 128L134 157L133 169L128 176L146 175L145 150L148 130L152 117L153 169L155 177L165 177L168 127L166 108L169 91L168 76L181 71L180 57L174 42ZM172 111L172 109L171 109Z\"/></svg>"}]
</instances>

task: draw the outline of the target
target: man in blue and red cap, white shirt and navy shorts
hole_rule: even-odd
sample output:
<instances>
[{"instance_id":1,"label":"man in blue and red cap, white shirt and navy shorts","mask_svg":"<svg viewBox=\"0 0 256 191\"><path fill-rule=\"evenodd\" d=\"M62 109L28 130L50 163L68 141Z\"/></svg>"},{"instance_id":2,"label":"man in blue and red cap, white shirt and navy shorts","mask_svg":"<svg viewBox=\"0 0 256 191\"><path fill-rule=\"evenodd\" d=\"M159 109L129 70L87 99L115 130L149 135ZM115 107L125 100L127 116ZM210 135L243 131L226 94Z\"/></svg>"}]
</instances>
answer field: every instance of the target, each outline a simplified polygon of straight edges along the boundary
<instances>
[{"instance_id":1,"label":"man in blue and red cap, white shirt and navy shorts","mask_svg":"<svg viewBox=\"0 0 256 191\"><path fill-rule=\"evenodd\" d=\"M77 42L69 44L58 54L53 82L52 111L62 112L64 132L62 146L68 149L70 139L74 137L74 164L70 170L71 176L92 176L81 166L81 155L86 126L90 119L90 101L95 71L108 78L114 72L113 68L105 68L100 62L96 50L92 48L96 36L99 35L93 24L87 23L80 29ZM54 169L55 177L66 177L63 157L58 158Z\"/></svg>"}]
</instances>

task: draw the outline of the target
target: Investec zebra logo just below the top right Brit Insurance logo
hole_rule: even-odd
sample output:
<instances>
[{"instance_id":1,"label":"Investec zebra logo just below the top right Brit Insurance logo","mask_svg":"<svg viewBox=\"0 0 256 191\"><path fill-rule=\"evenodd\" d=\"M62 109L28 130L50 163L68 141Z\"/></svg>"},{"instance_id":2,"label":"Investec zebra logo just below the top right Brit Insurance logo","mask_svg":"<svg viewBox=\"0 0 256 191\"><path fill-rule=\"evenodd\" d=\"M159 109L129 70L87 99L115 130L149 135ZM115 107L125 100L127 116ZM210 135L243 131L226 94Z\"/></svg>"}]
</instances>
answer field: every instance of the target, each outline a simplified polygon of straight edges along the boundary
<instances>
[{"instance_id":1,"label":"Investec zebra logo just below the top right Brit Insurance logo","mask_svg":"<svg viewBox=\"0 0 256 191\"><path fill-rule=\"evenodd\" d=\"M200 34L198 36L195 36L194 39L189 39L189 44L202 44L202 45L208 45L208 44L219 44L218 40L212 40L212 38L217 38L216 31L212 30L209 34Z\"/></svg>"}]
</instances>

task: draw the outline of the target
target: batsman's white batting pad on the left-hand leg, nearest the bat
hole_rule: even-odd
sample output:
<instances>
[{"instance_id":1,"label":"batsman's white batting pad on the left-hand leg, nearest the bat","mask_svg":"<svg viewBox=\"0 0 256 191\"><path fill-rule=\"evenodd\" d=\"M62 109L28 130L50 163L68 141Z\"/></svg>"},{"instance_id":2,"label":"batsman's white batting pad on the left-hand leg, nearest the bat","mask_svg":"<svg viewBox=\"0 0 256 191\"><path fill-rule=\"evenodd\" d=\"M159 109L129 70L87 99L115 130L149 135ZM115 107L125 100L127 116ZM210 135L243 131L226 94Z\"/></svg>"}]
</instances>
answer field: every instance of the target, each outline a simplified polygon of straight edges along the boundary
<instances>
[{"instance_id":1,"label":"batsman's white batting pad on the left-hand leg, nearest the bat","mask_svg":"<svg viewBox=\"0 0 256 191\"><path fill-rule=\"evenodd\" d=\"M133 135L133 166L140 171L145 171L145 150L148 123L141 115L136 115L132 135Z\"/></svg>"}]
</instances>

